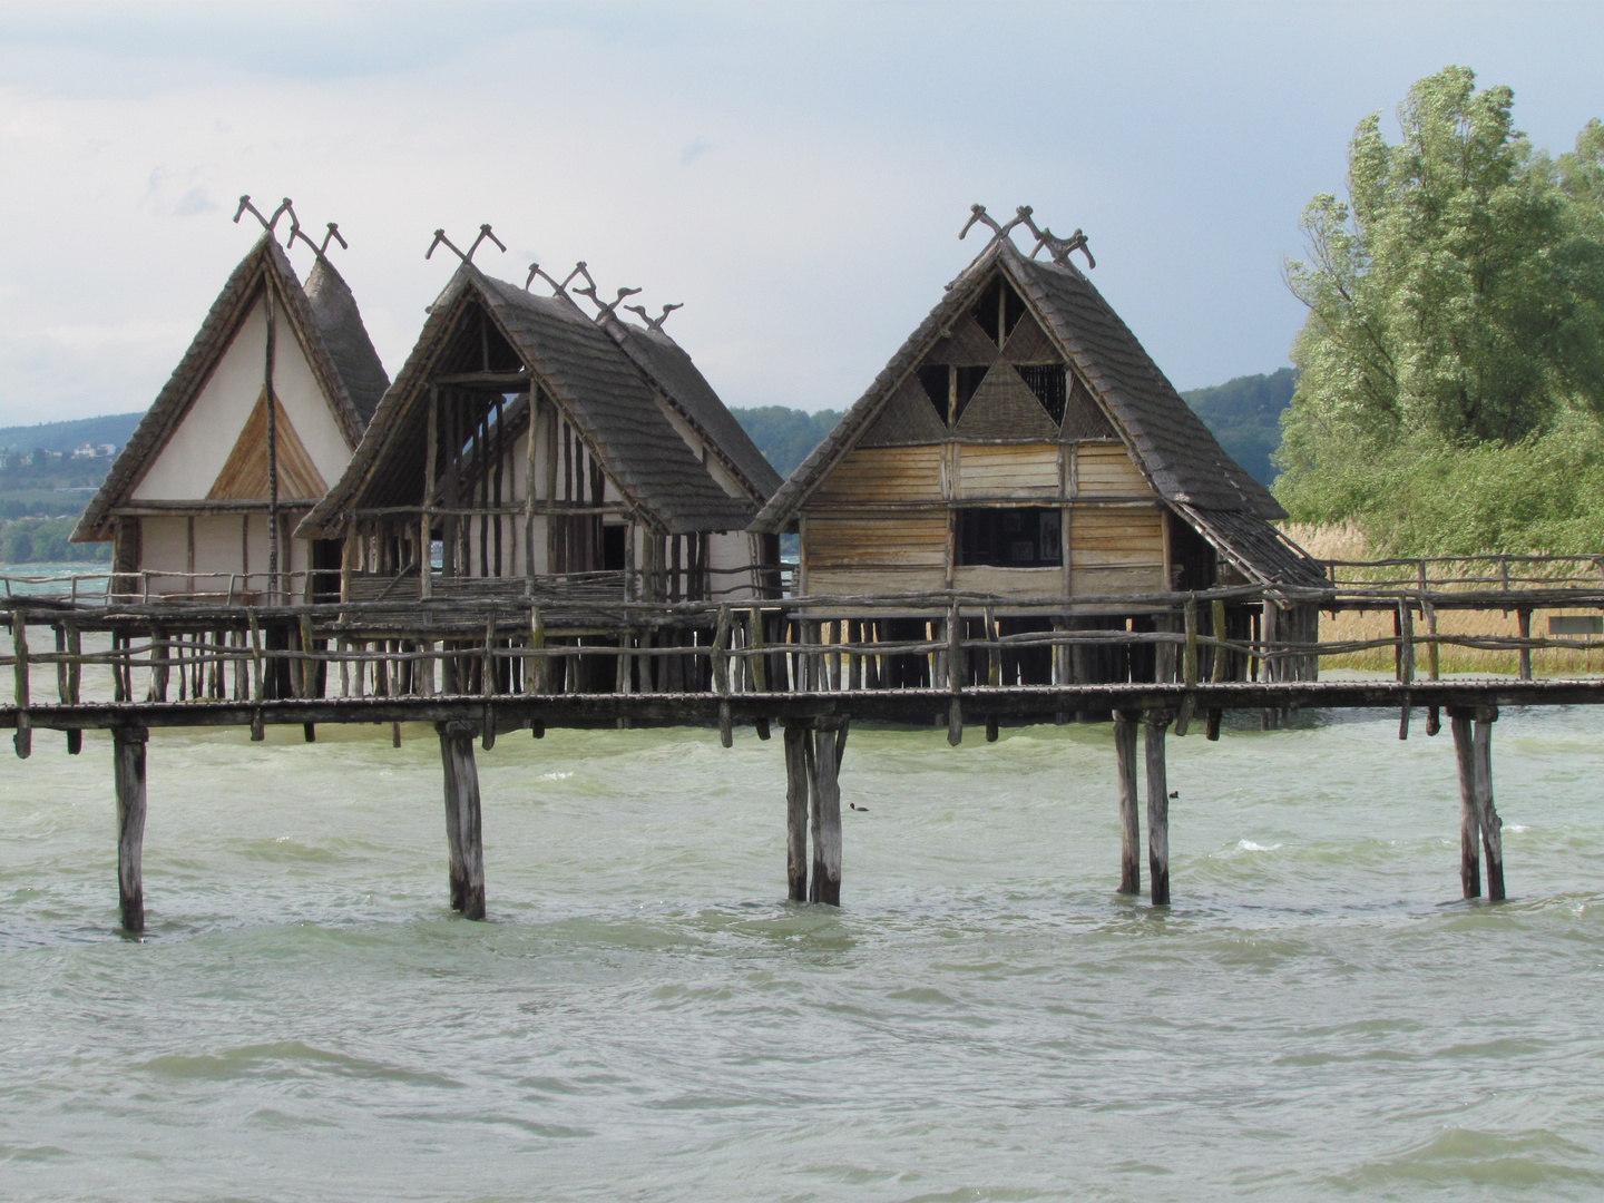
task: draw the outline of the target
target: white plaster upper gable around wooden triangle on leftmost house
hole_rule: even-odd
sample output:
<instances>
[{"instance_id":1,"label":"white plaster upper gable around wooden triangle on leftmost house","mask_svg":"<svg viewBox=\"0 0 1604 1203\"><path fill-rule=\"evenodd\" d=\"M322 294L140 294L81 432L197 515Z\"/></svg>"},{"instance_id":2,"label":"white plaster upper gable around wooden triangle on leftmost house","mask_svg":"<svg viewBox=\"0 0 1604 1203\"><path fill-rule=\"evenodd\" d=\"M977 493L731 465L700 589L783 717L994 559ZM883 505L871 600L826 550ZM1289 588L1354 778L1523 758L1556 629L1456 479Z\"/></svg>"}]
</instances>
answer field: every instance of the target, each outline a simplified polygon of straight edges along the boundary
<instances>
[{"instance_id":1,"label":"white plaster upper gable around wooden triangle on leftmost house","mask_svg":"<svg viewBox=\"0 0 1604 1203\"><path fill-rule=\"evenodd\" d=\"M266 313L258 302L220 356L178 430L135 488L135 500L191 500L212 491L239 441L245 419L261 396L266 345ZM273 391L324 483L334 484L351 459L351 448L282 313L274 340Z\"/></svg>"}]
</instances>

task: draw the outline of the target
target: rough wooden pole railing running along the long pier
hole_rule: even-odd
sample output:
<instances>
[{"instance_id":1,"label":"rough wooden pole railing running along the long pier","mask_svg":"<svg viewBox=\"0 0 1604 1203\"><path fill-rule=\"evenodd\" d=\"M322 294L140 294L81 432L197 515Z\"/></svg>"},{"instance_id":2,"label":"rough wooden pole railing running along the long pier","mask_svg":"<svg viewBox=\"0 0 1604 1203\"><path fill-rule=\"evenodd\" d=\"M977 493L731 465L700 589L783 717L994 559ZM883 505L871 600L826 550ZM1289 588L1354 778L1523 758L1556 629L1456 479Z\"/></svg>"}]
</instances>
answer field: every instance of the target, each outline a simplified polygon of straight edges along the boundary
<instances>
[{"instance_id":1,"label":"rough wooden pole railing running along the long pier","mask_svg":"<svg viewBox=\"0 0 1604 1203\"><path fill-rule=\"evenodd\" d=\"M1543 610L1604 614L1604 582L1538 585L1514 574L1505 587L1500 573L1492 590L1474 587L1480 579L1408 584L1245 585L1071 605L926 592L677 603L446 595L399 605L239 606L115 593L85 603L13 590L0 603L10 610L13 643L0 669L10 669L16 709L26 715L85 703L260 707L277 699L861 691L961 698L1152 683L1190 690L1309 682L1322 661L1378 651L1391 656L1395 682L1412 685L1439 680L1442 648L1514 653L1522 680L1532 678L1533 651L1604 653L1598 618L1575 630L1530 629L1532 614ZM1392 632L1318 638L1315 611L1343 608L1391 610ZM1513 610L1519 634L1448 634L1437 622L1447 610ZM30 638L30 629L45 629L43 638Z\"/></svg>"}]
</instances>

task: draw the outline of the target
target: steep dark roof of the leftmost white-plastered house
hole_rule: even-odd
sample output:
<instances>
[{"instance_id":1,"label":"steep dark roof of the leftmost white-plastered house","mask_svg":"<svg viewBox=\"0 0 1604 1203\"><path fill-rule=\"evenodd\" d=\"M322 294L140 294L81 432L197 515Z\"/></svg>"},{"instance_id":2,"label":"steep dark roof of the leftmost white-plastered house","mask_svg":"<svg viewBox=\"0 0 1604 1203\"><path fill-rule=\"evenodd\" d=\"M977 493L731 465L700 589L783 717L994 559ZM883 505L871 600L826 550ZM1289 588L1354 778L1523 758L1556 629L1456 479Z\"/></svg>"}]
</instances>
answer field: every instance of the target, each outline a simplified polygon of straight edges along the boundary
<instances>
[{"instance_id":1,"label":"steep dark roof of the leftmost white-plastered house","mask_svg":"<svg viewBox=\"0 0 1604 1203\"><path fill-rule=\"evenodd\" d=\"M351 446L358 444L390 379L363 327L356 298L334 265L322 257L303 289L284 249L271 234L263 233L229 274L184 358L112 462L104 483L72 531L74 542L111 537L111 512L125 504L140 486L269 279L282 302L281 313L305 348L340 430Z\"/></svg>"}]
</instances>

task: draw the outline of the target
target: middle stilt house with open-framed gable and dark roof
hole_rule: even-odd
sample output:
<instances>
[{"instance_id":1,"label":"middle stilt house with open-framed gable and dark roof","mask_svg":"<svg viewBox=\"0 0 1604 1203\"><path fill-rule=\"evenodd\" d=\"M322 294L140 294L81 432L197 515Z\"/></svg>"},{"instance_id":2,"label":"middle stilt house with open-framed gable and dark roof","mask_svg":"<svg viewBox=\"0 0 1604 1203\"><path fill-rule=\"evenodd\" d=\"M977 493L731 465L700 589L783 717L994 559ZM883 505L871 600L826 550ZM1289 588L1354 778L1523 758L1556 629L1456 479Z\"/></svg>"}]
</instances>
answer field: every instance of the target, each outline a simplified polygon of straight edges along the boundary
<instances>
[{"instance_id":1,"label":"middle stilt house with open-framed gable and dark roof","mask_svg":"<svg viewBox=\"0 0 1604 1203\"><path fill-rule=\"evenodd\" d=\"M302 526L345 539L348 598L773 587L778 539L746 528L778 473L661 319L616 308L590 316L563 286L534 295L464 261Z\"/></svg>"}]
</instances>

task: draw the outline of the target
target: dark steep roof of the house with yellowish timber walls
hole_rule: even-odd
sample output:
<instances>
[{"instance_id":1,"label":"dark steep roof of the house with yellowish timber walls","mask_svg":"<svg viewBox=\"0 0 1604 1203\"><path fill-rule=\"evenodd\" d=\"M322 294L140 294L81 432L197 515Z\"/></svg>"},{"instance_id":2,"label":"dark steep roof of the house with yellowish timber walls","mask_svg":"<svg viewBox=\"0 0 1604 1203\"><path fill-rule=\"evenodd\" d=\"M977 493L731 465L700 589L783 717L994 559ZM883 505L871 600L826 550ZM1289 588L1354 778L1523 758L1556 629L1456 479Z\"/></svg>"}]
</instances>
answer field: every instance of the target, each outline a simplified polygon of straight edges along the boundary
<instances>
[{"instance_id":1,"label":"dark steep roof of the house with yellowish timber walls","mask_svg":"<svg viewBox=\"0 0 1604 1203\"><path fill-rule=\"evenodd\" d=\"M1193 526L1192 515L1197 513L1233 515L1214 525L1219 528L1214 537L1224 537L1221 531L1230 529L1240 541L1243 526L1267 531L1266 539L1254 541L1259 558L1270 545L1280 547L1283 555L1275 557L1275 565L1259 565L1251 576L1290 579L1286 573L1302 577L1318 571L1314 561L1267 526L1285 518L1286 512L1219 446L1092 282L1070 263L1027 258L1007 237L994 239L948 286L946 295L868 391L775 492L757 515L754 529L783 531L796 521L812 489L853 448L937 340L958 326L994 274L1006 277L1025 298L1057 353L1088 385L1153 491L1171 502L1176 513ZM1209 531L1200 528L1198 533L1214 541Z\"/></svg>"}]
</instances>

